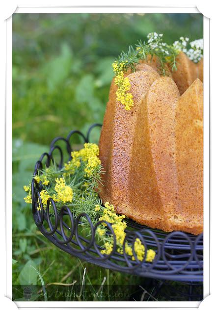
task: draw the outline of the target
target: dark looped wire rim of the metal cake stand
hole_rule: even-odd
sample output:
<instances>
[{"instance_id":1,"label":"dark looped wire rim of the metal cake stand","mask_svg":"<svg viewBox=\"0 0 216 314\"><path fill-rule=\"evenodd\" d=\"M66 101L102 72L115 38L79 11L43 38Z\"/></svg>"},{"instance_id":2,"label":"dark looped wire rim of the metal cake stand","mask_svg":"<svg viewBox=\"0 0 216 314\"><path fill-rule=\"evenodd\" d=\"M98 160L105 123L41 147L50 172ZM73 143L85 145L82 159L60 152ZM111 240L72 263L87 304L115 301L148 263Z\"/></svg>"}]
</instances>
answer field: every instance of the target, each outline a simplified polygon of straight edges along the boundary
<instances>
[{"instance_id":1,"label":"dark looped wire rim of the metal cake stand","mask_svg":"<svg viewBox=\"0 0 216 314\"><path fill-rule=\"evenodd\" d=\"M56 164L59 169L62 168L64 154L56 143L64 142L67 160L70 160L72 137L78 134L83 142L89 142L91 132L101 126L101 124L92 125L86 136L75 130L71 131L66 138L56 137L51 143L49 153L42 154L36 162L33 175L37 174L38 169L49 167L51 162L54 162L54 152L58 152L60 158ZM62 206L60 211L57 210L53 199L49 199L44 208L40 196L40 186L34 179L31 183L31 195L33 218L38 229L57 247L72 256L112 270L143 277L190 283L203 281L202 234L195 236L184 232L165 233L126 219L126 237L123 243L123 254L120 254L117 251L114 231L107 221L98 221L93 225L86 213L81 213L75 218L67 206ZM38 207L40 210L37 209ZM52 208L52 214L50 208ZM68 217L70 225L64 221L65 216ZM79 231L83 218L87 220L90 227L91 233L88 237L84 237ZM97 243L95 236L97 227L103 222L107 225L106 232L113 236L113 248L109 255L101 253L102 247ZM142 262L137 259L134 249L136 238L139 238L144 245L145 252L149 248L156 252L153 262L146 262L147 254ZM134 259L126 254L126 242L132 245Z\"/></svg>"}]
</instances>

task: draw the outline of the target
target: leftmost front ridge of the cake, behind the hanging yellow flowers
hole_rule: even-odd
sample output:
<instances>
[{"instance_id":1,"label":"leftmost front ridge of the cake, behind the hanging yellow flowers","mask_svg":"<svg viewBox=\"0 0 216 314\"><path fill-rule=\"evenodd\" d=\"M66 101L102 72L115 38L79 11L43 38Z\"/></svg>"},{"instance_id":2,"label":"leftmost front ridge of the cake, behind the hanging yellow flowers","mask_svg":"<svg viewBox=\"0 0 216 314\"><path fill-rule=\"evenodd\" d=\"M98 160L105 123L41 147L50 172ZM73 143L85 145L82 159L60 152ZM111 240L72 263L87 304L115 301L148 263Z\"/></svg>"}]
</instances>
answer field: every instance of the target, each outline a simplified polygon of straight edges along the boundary
<instances>
[{"instance_id":1,"label":"leftmost front ridge of the cake, behind the hanging yellow flowers","mask_svg":"<svg viewBox=\"0 0 216 314\"><path fill-rule=\"evenodd\" d=\"M159 78L159 75L156 71L136 71L129 74L128 78L131 83L130 92L134 96L134 107L130 111L126 111L119 102L109 101L99 142L99 158L105 170L104 186L100 187L100 197L103 202L112 203L117 208L116 210L118 210L119 197L124 204L129 202L129 167L132 157L134 125L139 118L138 108L149 87L156 78ZM108 136L107 132L111 129L111 127L107 129L108 124L113 126L111 137ZM104 141L106 137L109 137L110 142ZM107 157L104 157L105 154Z\"/></svg>"}]
</instances>

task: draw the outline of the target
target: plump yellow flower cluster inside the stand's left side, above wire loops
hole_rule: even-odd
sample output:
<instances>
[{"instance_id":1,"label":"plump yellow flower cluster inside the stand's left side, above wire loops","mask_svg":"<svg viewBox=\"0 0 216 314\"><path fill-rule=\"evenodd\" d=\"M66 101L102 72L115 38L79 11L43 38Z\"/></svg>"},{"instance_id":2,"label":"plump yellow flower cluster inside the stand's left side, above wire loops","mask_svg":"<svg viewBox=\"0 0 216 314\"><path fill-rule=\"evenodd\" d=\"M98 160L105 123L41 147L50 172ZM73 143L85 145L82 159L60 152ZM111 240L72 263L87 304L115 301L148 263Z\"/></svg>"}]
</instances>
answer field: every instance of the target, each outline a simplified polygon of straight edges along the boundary
<instances>
[{"instance_id":1,"label":"plump yellow flower cluster inside the stand's left side, above wire loops","mask_svg":"<svg viewBox=\"0 0 216 314\"><path fill-rule=\"evenodd\" d=\"M57 195L54 195L54 201L61 201L63 203L71 202L73 198L72 188L65 183L64 178L55 179L55 191Z\"/></svg>"}]
</instances>

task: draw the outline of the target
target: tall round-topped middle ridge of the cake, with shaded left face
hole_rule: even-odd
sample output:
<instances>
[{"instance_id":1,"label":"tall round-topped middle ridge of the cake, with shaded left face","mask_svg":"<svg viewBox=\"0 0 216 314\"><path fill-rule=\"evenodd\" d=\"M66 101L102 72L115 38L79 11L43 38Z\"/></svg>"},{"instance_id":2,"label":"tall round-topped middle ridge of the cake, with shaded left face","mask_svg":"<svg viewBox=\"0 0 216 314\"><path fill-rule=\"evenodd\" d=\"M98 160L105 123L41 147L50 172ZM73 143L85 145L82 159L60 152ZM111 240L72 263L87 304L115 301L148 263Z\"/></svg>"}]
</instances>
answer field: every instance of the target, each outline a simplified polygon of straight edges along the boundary
<instances>
[{"instance_id":1,"label":"tall round-topped middle ridge of the cake, with shaded left face","mask_svg":"<svg viewBox=\"0 0 216 314\"><path fill-rule=\"evenodd\" d=\"M171 78L155 80L141 106L135 127L131 164L131 199L137 222L170 230L170 212L176 210L175 104L179 91Z\"/></svg>"}]
</instances>

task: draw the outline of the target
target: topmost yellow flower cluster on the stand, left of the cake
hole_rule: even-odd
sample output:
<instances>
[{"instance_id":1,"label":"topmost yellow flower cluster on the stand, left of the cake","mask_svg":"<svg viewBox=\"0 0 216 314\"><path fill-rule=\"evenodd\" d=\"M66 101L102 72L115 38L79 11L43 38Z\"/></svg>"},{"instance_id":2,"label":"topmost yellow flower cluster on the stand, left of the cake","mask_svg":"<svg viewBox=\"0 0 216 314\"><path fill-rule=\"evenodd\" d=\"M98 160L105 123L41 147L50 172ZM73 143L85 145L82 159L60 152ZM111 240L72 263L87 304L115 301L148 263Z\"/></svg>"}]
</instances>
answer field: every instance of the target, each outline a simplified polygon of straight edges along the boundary
<instances>
[{"instance_id":1,"label":"topmost yellow flower cluster on the stand, left of the cake","mask_svg":"<svg viewBox=\"0 0 216 314\"><path fill-rule=\"evenodd\" d=\"M82 148L80 151L71 153L72 159L68 161L68 163L64 164L64 168L67 171L67 173L65 173L64 175L74 174L76 169L80 167L81 160L83 162L86 162L90 157L98 155L99 155L98 145L92 143L85 143L84 148Z\"/></svg>"}]
</instances>

